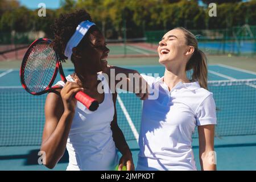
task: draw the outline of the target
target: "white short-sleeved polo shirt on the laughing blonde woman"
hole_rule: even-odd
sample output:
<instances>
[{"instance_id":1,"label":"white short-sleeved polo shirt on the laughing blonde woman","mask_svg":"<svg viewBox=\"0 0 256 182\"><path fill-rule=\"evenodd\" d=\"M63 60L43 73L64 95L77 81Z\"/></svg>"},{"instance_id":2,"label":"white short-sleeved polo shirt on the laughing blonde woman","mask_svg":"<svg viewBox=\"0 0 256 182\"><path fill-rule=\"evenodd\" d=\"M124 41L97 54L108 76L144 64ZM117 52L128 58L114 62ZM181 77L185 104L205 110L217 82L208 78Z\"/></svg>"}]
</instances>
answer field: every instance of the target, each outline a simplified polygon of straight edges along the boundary
<instances>
[{"instance_id":1,"label":"white short-sleeved polo shirt on the laughing blonde woman","mask_svg":"<svg viewBox=\"0 0 256 182\"><path fill-rule=\"evenodd\" d=\"M215 125L213 94L198 82L178 82L171 91L162 78L142 75L155 100L143 102L137 170L196 170L192 134L199 125Z\"/></svg>"}]
</instances>

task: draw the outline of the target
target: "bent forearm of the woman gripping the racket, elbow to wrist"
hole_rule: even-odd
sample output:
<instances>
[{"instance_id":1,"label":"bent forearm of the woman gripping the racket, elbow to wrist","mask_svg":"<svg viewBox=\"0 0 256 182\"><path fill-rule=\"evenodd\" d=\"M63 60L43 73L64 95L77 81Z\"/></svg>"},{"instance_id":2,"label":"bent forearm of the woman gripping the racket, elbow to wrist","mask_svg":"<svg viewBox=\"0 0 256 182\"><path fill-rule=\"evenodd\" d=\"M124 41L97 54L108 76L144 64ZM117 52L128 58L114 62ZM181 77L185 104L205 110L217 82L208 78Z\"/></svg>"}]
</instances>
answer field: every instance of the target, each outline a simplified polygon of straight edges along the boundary
<instances>
[{"instance_id":1,"label":"bent forearm of the woman gripping the racket, elbow to wrist","mask_svg":"<svg viewBox=\"0 0 256 182\"><path fill-rule=\"evenodd\" d=\"M74 113L64 112L51 136L42 143L41 151L46 154L46 167L53 168L65 152L68 133Z\"/></svg>"}]
</instances>

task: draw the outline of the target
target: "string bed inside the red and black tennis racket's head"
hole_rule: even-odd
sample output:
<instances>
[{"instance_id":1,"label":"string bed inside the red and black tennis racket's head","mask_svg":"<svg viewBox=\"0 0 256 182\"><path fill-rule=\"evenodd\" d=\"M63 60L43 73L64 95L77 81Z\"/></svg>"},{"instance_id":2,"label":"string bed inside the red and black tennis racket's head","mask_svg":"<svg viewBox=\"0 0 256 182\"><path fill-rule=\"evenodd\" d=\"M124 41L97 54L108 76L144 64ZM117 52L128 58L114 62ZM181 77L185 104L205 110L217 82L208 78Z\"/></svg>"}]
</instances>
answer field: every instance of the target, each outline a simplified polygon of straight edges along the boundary
<instances>
[{"instance_id":1,"label":"string bed inside the red and black tennis racket's head","mask_svg":"<svg viewBox=\"0 0 256 182\"><path fill-rule=\"evenodd\" d=\"M50 84L56 68L56 55L48 43L31 48L24 69L24 81L30 92L42 92Z\"/></svg>"}]
</instances>

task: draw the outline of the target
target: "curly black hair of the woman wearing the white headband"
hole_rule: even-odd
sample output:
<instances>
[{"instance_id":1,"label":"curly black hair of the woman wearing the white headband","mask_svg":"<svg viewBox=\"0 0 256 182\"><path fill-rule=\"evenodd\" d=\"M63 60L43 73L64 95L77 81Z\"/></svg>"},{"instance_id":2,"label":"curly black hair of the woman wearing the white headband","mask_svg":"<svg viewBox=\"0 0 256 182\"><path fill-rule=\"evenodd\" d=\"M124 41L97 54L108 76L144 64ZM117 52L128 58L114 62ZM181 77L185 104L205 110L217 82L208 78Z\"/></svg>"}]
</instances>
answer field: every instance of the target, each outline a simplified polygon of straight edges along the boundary
<instances>
[{"instance_id":1,"label":"curly black hair of the woman wearing the white headband","mask_svg":"<svg viewBox=\"0 0 256 182\"><path fill-rule=\"evenodd\" d=\"M86 10L76 10L74 13L61 14L52 24L51 28L54 34L52 46L61 61L68 59L64 55L68 40L76 31L76 27L85 20L92 21L90 14Z\"/></svg>"}]
</instances>

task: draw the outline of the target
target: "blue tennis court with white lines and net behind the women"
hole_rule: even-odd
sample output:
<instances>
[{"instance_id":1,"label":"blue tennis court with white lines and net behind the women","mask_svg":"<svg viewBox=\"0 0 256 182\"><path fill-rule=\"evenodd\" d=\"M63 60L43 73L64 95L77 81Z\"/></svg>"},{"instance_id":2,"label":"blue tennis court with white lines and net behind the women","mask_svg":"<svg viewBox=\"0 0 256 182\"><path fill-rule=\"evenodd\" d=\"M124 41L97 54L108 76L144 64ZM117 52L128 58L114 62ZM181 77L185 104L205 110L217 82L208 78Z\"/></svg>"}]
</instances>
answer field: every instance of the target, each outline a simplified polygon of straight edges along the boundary
<instances>
[{"instance_id":1,"label":"blue tennis court with white lines and net behind the women","mask_svg":"<svg viewBox=\"0 0 256 182\"><path fill-rule=\"evenodd\" d=\"M159 73L160 65L124 66L140 73ZM65 69L65 75L73 69ZM222 64L209 65L209 90L218 107L215 151L219 170L256 170L256 73ZM57 80L57 79L56 79ZM20 86L19 70L0 70L0 170L47 170L38 164L46 96L31 96ZM137 164L142 102L131 93L117 100L118 125ZM197 134L193 136L200 169ZM68 155L54 168L65 170Z\"/></svg>"}]
</instances>

